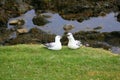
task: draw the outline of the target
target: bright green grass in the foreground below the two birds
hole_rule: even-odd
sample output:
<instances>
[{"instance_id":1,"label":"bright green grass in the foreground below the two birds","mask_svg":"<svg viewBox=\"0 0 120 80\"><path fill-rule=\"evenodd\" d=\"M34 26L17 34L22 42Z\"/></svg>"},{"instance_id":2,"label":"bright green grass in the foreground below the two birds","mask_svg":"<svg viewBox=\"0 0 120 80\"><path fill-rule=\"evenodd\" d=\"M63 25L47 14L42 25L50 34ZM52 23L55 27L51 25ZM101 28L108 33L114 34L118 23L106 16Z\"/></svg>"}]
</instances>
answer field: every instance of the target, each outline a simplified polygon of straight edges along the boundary
<instances>
[{"instance_id":1,"label":"bright green grass in the foreground below the two birds","mask_svg":"<svg viewBox=\"0 0 120 80\"><path fill-rule=\"evenodd\" d=\"M120 80L120 55L103 49L0 47L0 80Z\"/></svg>"}]
</instances>

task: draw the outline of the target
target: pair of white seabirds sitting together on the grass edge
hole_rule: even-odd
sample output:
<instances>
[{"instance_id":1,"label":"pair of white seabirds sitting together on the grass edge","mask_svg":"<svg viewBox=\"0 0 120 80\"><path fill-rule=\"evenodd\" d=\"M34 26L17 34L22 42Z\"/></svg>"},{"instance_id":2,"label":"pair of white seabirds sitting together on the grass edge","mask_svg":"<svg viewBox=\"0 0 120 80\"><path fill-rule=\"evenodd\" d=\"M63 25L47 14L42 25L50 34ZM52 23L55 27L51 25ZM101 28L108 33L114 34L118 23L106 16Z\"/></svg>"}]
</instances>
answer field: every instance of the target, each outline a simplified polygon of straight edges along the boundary
<instances>
[{"instance_id":1,"label":"pair of white seabirds sitting together on the grass edge","mask_svg":"<svg viewBox=\"0 0 120 80\"><path fill-rule=\"evenodd\" d=\"M67 33L67 38L68 38L68 48L70 49L78 49L80 46L82 46L81 42L78 40L75 40L72 33ZM60 42L61 36L56 36L55 37L55 42L51 43L46 43L45 46L48 49L51 50L61 50L62 49L62 44Z\"/></svg>"}]
</instances>

